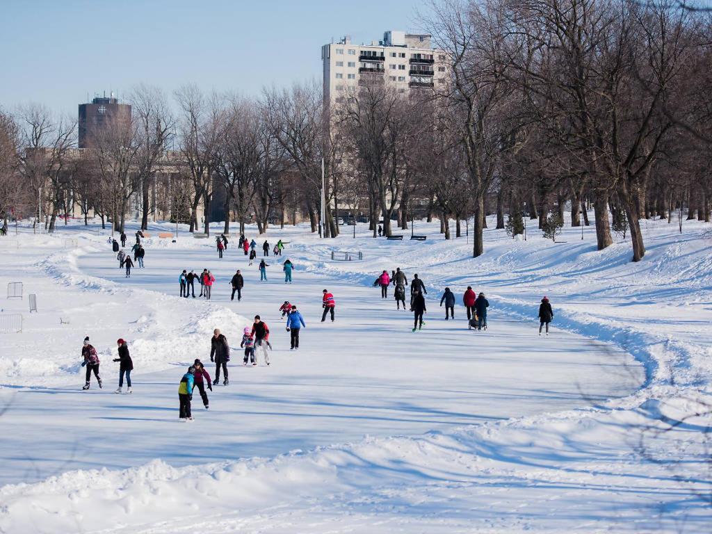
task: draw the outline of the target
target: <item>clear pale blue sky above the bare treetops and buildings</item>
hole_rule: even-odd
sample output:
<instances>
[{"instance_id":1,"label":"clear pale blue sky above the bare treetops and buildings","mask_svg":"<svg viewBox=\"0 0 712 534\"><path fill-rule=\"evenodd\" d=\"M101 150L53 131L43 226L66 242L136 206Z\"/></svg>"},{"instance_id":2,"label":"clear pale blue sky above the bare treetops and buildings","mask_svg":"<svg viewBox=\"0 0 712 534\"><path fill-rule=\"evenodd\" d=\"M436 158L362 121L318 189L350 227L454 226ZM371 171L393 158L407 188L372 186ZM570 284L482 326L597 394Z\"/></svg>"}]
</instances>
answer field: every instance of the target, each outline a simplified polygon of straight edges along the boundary
<instances>
[{"instance_id":1,"label":"clear pale blue sky above the bare treetops and buildings","mask_svg":"<svg viewBox=\"0 0 712 534\"><path fill-rule=\"evenodd\" d=\"M0 0L0 107L75 114L145 82L257 95L321 79L320 46L419 30L425 0ZM284 51L283 51L284 50Z\"/></svg>"}]
</instances>

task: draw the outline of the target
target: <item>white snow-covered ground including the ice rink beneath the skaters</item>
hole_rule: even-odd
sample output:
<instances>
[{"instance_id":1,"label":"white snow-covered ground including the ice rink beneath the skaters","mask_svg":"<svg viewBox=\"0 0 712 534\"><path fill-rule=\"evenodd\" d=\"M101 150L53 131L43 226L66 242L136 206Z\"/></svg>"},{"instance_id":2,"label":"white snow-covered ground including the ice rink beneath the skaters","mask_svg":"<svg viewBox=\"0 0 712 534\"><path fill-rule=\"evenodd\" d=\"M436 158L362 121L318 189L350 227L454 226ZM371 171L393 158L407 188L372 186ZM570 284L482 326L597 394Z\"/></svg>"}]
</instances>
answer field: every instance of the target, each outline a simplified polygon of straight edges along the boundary
<instances>
[{"instance_id":1,"label":"white snow-covered ground including the ice rink beneath the skaters","mask_svg":"<svg viewBox=\"0 0 712 534\"><path fill-rule=\"evenodd\" d=\"M709 420L657 431L709 399L708 225L644 223L637 264L627 244L595 251L592 229L557 244L489 229L486 254L471 258L465 238L417 225L427 241L270 229L271 244L289 241L290 285L272 256L260 282L236 236L221 260L212 240L148 239L130 279L96 226L0 239L0 288L23 281L39 309L27 313L27 296L0 305L24 320L23 333L0 334L0 532L709 531ZM332 250L365 259L331 261ZM371 285L397 266L426 283L421 332ZM183 268L215 274L209 302L179 298ZM446 322L445 286L459 299L484 291L489 330L467 330L460 300ZM320 323L323 288L333 324ZM543 295L550 337L537 335ZM305 316L298 352L283 300ZM272 330L269 367L241 365L255 314ZM209 411L194 396L196 420L181 424L178 381L194 358L209 364L213 328L232 347L231 384L209 393ZM105 383L88 392L85 335ZM113 394L117 337L135 363L131 396Z\"/></svg>"}]
</instances>

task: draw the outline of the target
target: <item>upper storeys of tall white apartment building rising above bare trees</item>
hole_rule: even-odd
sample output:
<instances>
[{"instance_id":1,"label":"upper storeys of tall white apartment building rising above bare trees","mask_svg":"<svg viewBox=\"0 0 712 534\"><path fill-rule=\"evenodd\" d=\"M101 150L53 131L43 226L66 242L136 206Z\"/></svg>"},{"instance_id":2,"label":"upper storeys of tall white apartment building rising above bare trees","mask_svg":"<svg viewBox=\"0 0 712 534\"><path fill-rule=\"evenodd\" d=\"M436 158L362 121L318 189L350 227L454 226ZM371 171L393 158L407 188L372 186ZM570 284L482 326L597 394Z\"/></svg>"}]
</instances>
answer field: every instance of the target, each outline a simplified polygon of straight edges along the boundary
<instances>
[{"instance_id":1,"label":"upper storeys of tall white apartment building rising above bare trees","mask_svg":"<svg viewBox=\"0 0 712 534\"><path fill-rule=\"evenodd\" d=\"M402 92L436 88L445 83L446 56L431 48L427 34L386 31L382 41L355 45L346 36L322 46L324 103L333 105L343 93L369 75L392 83Z\"/></svg>"}]
</instances>

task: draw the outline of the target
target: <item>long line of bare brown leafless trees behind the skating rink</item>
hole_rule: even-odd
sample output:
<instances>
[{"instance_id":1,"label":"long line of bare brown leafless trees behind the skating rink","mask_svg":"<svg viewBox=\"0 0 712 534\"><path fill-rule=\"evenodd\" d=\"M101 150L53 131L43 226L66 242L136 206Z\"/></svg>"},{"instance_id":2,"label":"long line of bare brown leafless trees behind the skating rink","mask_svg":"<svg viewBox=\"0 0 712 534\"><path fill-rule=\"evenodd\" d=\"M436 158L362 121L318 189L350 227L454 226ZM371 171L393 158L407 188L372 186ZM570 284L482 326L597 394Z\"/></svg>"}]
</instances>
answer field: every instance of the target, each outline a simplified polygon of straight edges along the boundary
<instances>
[{"instance_id":1,"label":"long line of bare brown leafless trees behind the skating rink","mask_svg":"<svg viewBox=\"0 0 712 534\"><path fill-rule=\"evenodd\" d=\"M446 239L449 220L456 236L464 222L479 256L488 214L513 235L529 217L555 236L567 208L572 226L595 226L599 249L625 231L634 261L642 219L710 220L706 11L444 0L423 24L447 66L432 87L363 73L326 102L320 83L256 98L186 85L171 101L141 85L130 124L106 128L80 157L74 120L41 105L0 112L0 214L43 209L53 228L78 205L123 229L131 211L145 227L161 210L208 232L218 202L226 231L232 220L263 233L303 214L325 237L342 216L367 214L374 236L425 216Z\"/></svg>"}]
</instances>

